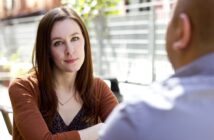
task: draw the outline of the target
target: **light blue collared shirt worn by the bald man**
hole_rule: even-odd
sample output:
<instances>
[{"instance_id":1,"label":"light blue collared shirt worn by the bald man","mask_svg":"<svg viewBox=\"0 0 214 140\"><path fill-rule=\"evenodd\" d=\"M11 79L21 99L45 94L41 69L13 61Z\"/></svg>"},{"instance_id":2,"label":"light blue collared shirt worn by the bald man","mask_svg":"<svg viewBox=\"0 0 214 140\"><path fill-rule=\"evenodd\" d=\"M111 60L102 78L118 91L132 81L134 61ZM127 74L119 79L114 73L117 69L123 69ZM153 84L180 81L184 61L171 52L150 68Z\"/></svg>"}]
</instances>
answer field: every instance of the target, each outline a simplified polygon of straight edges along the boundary
<instances>
[{"instance_id":1,"label":"light blue collared shirt worn by the bald man","mask_svg":"<svg viewBox=\"0 0 214 140\"><path fill-rule=\"evenodd\" d=\"M101 140L214 140L214 53L120 104Z\"/></svg>"}]
</instances>

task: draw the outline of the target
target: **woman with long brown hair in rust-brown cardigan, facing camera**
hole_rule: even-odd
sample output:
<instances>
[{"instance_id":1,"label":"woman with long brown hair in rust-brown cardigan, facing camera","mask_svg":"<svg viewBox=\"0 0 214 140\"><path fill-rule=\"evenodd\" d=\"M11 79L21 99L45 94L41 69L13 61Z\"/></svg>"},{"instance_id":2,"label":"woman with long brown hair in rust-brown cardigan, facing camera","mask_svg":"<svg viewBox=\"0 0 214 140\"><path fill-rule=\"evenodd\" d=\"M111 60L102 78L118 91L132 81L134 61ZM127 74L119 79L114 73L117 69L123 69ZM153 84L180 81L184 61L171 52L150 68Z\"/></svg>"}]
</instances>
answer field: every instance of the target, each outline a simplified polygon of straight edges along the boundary
<instances>
[{"instance_id":1,"label":"woman with long brown hair in rust-brown cardigan, facing camera","mask_svg":"<svg viewBox=\"0 0 214 140\"><path fill-rule=\"evenodd\" d=\"M93 77L91 57L87 29L73 10L55 8L41 19L33 69L9 87L14 140L97 139L118 102Z\"/></svg>"}]
</instances>

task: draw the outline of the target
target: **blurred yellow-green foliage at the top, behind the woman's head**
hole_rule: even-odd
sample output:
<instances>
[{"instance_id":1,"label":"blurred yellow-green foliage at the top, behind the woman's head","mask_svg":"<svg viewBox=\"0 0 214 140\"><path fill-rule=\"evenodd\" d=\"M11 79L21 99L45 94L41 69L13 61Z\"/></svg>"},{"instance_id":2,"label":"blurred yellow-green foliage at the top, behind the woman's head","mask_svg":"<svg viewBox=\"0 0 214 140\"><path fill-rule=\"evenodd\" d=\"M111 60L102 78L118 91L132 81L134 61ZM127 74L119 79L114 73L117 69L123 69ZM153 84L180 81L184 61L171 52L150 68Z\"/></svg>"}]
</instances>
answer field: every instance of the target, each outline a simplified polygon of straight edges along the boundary
<instances>
[{"instance_id":1,"label":"blurred yellow-green foliage at the top, behind the woman's head","mask_svg":"<svg viewBox=\"0 0 214 140\"><path fill-rule=\"evenodd\" d=\"M88 21L98 14L112 15L119 14L120 11L104 11L104 9L115 8L121 0L61 0L63 5L73 7L85 21Z\"/></svg>"}]
</instances>

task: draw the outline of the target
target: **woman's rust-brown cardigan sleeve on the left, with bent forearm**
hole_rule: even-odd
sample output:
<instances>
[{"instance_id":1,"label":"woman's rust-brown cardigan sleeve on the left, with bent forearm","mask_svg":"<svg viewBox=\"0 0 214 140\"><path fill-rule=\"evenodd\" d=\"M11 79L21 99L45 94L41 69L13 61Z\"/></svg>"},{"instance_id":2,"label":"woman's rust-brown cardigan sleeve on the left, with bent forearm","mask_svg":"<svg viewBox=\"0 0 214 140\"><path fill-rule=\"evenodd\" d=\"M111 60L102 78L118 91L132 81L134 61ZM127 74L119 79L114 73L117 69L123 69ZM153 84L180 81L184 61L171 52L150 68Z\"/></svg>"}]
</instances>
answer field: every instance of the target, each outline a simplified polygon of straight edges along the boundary
<instances>
[{"instance_id":1,"label":"woman's rust-brown cardigan sleeve on the left, with bent forearm","mask_svg":"<svg viewBox=\"0 0 214 140\"><path fill-rule=\"evenodd\" d=\"M80 140L78 131L52 134L38 108L38 92L28 80L17 79L9 87L13 107L13 140Z\"/></svg>"}]
</instances>

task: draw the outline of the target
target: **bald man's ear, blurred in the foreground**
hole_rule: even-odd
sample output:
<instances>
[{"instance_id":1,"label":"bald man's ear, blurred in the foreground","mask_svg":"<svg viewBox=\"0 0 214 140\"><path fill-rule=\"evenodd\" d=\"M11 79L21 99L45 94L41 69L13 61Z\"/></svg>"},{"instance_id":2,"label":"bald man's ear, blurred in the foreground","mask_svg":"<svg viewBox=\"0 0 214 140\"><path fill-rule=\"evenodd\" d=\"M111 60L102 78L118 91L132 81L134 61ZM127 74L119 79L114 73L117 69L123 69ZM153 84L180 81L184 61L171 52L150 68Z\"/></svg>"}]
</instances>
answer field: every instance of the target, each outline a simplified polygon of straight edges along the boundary
<instances>
[{"instance_id":1,"label":"bald man's ear, blurred in the foreground","mask_svg":"<svg viewBox=\"0 0 214 140\"><path fill-rule=\"evenodd\" d=\"M189 17L185 13L179 15L178 21L178 39L173 44L173 48L175 50L182 50L188 47L191 38L191 24Z\"/></svg>"}]
</instances>

